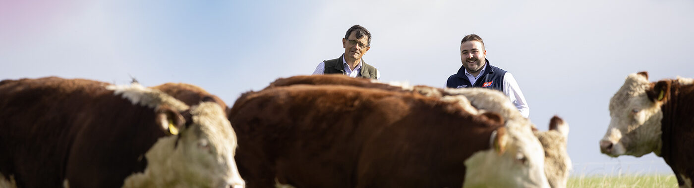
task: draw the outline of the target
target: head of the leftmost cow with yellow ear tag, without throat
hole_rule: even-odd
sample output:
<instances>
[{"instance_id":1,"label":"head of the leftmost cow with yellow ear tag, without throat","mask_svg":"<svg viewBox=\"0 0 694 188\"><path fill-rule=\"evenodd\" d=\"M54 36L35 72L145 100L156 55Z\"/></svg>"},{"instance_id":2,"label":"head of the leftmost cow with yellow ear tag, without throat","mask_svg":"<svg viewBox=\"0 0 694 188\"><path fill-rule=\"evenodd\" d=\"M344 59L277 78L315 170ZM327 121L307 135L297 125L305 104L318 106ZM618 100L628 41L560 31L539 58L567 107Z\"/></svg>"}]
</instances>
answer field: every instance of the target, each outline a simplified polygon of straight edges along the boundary
<instances>
[{"instance_id":1,"label":"head of the leftmost cow with yellow ear tag, without throat","mask_svg":"<svg viewBox=\"0 0 694 188\"><path fill-rule=\"evenodd\" d=\"M178 164L169 168L180 169L178 178L189 178L191 185L244 187L234 160L236 135L224 110L218 103L202 102L184 114L186 128L165 160Z\"/></svg>"}]
</instances>

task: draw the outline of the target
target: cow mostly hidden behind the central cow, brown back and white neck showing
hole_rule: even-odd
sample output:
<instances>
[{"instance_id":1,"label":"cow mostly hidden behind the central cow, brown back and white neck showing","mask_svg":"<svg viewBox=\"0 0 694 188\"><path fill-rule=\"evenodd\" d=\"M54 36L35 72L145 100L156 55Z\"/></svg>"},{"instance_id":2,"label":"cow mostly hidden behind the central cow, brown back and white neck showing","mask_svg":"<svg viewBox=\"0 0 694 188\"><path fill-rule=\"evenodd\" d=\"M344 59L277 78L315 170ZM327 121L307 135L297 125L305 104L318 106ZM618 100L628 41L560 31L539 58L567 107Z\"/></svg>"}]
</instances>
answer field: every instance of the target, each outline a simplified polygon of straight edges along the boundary
<instances>
[{"instance_id":1,"label":"cow mostly hidden behind the central cow, brown back and white neck showing","mask_svg":"<svg viewBox=\"0 0 694 188\"><path fill-rule=\"evenodd\" d=\"M545 174L550 185L555 188L566 187L568 175L572 168L571 160L566 151L568 124L563 119L555 116L550 120L550 130L545 132L537 131L534 124L529 119L523 117L521 112L518 112L516 107L509 102L507 96L502 92L483 88L441 89L425 85L410 87L399 83L384 84L371 79L350 78L335 74L279 78L266 88L289 85L351 85L393 92L410 92L442 100L453 99L460 101L462 108L473 114L496 112L505 119L505 125L507 126L521 126L521 128L534 130L533 132L538 137L545 152Z\"/></svg>"}]
</instances>

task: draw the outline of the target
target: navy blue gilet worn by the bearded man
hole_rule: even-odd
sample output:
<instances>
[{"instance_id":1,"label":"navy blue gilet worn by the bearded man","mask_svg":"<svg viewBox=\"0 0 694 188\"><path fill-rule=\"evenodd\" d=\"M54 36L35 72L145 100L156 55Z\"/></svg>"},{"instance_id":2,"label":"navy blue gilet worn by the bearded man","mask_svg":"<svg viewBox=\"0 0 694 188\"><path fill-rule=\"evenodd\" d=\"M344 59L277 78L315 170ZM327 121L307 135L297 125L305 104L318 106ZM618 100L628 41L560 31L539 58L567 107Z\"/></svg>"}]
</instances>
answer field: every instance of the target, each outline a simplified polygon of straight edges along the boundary
<instances>
[{"instance_id":1,"label":"navy blue gilet worn by the bearded man","mask_svg":"<svg viewBox=\"0 0 694 188\"><path fill-rule=\"evenodd\" d=\"M489 65L489 60L484 59L484 72L480 73L482 76L477 79L475 83L470 83L468 76L465 75L465 67L460 66L457 74L448 76L448 81L446 82L446 87L450 88L463 88L463 87L484 87L489 89L496 89L500 92L504 91L504 76L506 71L500 69L499 67L494 67Z\"/></svg>"}]
</instances>

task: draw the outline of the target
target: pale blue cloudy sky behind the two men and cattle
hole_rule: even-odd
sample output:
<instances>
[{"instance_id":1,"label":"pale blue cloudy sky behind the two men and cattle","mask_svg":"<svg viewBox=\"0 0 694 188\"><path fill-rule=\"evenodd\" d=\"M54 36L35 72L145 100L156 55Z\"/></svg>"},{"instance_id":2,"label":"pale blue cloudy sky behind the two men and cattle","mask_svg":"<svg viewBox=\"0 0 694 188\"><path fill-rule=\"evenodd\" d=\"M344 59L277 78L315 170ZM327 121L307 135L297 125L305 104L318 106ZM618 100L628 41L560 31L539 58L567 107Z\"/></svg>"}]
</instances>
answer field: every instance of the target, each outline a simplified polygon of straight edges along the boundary
<instances>
[{"instance_id":1,"label":"pale blue cloudy sky behind the two men and cattle","mask_svg":"<svg viewBox=\"0 0 694 188\"><path fill-rule=\"evenodd\" d=\"M144 85L192 83L227 103L337 58L354 24L382 80L443 87L459 41L480 35L514 74L530 119L570 124L581 174L671 173L653 154L610 158L598 141L628 74L694 77L694 1L4 1L0 79L61 76Z\"/></svg>"}]
</instances>

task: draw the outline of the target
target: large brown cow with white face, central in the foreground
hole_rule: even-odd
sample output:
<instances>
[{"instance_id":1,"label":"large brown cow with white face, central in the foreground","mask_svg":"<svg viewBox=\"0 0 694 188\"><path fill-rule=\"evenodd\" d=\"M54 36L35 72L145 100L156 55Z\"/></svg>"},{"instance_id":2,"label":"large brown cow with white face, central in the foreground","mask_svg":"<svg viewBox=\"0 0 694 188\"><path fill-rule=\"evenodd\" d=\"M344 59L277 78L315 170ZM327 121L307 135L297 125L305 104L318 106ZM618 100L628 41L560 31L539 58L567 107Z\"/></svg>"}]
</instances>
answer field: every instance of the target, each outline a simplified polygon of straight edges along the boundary
<instances>
[{"instance_id":1,"label":"large brown cow with white face, central in the foreground","mask_svg":"<svg viewBox=\"0 0 694 188\"><path fill-rule=\"evenodd\" d=\"M460 103L290 85L242 94L229 117L248 187L549 187L530 129Z\"/></svg>"}]
</instances>

